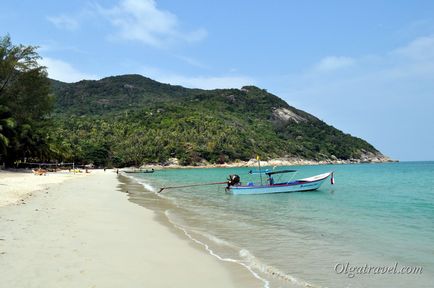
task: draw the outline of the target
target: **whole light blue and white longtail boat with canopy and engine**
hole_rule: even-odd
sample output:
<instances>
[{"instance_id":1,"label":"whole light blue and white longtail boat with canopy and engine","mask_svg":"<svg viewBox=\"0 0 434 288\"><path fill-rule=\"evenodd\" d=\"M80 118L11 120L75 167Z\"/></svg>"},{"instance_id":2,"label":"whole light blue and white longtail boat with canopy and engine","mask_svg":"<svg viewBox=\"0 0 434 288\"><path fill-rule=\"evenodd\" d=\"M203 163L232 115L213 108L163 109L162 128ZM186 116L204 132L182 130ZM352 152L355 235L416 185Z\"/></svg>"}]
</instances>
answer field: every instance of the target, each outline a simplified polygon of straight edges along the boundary
<instances>
[{"instance_id":1,"label":"whole light blue and white longtail boat with canopy and engine","mask_svg":"<svg viewBox=\"0 0 434 288\"><path fill-rule=\"evenodd\" d=\"M321 187L323 182L329 177L331 177L330 178L331 184L334 184L333 172L327 172L312 177L298 179L289 182L274 183L272 175L280 174L280 173L288 173L288 172L294 172L294 170L283 170L283 171L276 171L276 172L259 172L259 173L264 173L268 176L267 184L265 185L255 185L254 183L241 185L239 176L231 175L228 179L229 181L228 181L228 186L226 187L226 191L233 195L313 191Z\"/></svg>"}]
</instances>

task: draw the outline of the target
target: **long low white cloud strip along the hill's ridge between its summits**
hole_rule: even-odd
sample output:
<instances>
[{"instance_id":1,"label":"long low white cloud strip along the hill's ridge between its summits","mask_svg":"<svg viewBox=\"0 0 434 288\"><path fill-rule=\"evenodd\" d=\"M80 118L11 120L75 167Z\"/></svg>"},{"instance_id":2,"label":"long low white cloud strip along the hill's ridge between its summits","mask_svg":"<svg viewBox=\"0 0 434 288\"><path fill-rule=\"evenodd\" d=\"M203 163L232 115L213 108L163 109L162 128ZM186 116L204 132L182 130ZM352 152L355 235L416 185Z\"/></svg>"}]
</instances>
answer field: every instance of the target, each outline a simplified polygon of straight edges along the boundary
<instances>
[{"instance_id":1,"label":"long low white cloud strip along the hill's ridge between its summits","mask_svg":"<svg viewBox=\"0 0 434 288\"><path fill-rule=\"evenodd\" d=\"M254 79L243 76L185 76L176 73L162 71L158 68L143 67L141 73L162 83L181 85L188 88L201 89L223 89L241 88L246 85L255 84Z\"/></svg>"}]
</instances>

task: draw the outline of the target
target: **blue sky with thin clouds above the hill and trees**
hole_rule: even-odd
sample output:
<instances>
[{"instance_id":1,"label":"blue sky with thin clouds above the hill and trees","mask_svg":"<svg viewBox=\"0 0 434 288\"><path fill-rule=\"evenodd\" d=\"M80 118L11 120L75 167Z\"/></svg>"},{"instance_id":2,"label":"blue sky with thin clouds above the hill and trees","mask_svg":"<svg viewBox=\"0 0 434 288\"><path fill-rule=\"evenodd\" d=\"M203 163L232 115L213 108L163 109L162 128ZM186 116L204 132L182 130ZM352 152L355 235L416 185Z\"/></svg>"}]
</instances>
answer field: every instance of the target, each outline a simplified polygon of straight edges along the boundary
<instances>
[{"instance_id":1,"label":"blue sky with thin clouds above the hill and trees","mask_svg":"<svg viewBox=\"0 0 434 288\"><path fill-rule=\"evenodd\" d=\"M434 160L434 1L3 1L64 82L256 85L401 161Z\"/></svg>"}]
</instances>

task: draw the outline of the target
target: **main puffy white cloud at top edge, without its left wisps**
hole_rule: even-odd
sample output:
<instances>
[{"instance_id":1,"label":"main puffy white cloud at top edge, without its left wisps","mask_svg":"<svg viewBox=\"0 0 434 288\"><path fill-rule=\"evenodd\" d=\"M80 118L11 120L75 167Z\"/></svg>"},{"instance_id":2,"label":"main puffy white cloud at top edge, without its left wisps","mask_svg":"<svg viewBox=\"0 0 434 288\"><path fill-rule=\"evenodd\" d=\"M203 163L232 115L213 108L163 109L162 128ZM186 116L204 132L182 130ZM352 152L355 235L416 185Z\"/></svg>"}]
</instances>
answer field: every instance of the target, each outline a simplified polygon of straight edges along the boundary
<instances>
[{"instance_id":1,"label":"main puffy white cloud at top edge, without its left wisps","mask_svg":"<svg viewBox=\"0 0 434 288\"><path fill-rule=\"evenodd\" d=\"M184 32L176 15L160 10L154 0L122 0L112 8L98 7L100 15L117 29L112 38L166 47L175 41L195 42L206 37L205 29Z\"/></svg>"}]
</instances>

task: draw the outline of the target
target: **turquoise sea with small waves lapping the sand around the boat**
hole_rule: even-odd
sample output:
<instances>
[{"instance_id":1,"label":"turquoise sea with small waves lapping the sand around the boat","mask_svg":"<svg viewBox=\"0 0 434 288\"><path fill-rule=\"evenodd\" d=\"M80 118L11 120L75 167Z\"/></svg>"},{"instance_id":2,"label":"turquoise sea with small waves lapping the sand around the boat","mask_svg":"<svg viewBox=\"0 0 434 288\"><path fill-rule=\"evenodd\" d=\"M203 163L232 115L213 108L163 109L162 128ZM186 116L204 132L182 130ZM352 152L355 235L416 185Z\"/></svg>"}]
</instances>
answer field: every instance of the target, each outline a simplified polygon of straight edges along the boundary
<instances>
[{"instance_id":1,"label":"turquoise sea with small waves lapping the sand around the boat","mask_svg":"<svg viewBox=\"0 0 434 288\"><path fill-rule=\"evenodd\" d=\"M155 193L229 174L247 182L250 169L135 174L144 189L130 199L215 257L237 261L263 287L433 287L434 162L278 168L298 170L289 178L335 171L335 185L314 192L234 196L204 186ZM396 274L418 267L422 273Z\"/></svg>"}]
</instances>

